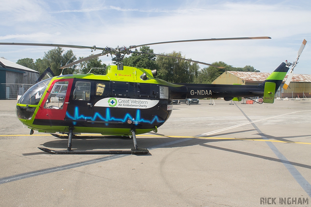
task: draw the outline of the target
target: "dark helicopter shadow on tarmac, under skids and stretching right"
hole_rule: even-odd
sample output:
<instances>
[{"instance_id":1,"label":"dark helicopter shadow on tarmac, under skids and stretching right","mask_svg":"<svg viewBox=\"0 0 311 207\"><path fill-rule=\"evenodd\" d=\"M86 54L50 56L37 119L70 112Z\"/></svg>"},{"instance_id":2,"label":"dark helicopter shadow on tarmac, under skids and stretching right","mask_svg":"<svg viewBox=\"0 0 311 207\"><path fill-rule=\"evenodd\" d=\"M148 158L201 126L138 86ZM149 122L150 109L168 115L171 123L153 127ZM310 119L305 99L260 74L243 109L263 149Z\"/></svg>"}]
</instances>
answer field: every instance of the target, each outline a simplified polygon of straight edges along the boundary
<instances>
[{"instance_id":1,"label":"dark helicopter shadow on tarmac, under skids and stretching right","mask_svg":"<svg viewBox=\"0 0 311 207\"><path fill-rule=\"evenodd\" d=\"M209 136L204 136L204 137L205 138L217 137L217 136L243 133L243 132L250 132L250 131L256 131L256 130L250 129L250 130L243 130L243 131L236 131L236 132L229 132L229 133L220 133L220 134L214 134L213 136L209 135ZM150 134L156 134L156 133L150 133ZM260 136L267 137L269 139L275 139L275 140L279 140L279 141L283 141L283 142L291 142L288 139L295 138L295 137L311 138L311 135L288 136L288 137L273 137L273 136L270 136L267 134L258 134L258 133L255 133L253 135L256 135L256 134L260 135ZM160 134L157 134L157 135L160 135ZM165 135L163 135L163 136L165 136ZM74 142L74 149L78 148L78 149L82 149L82 150L95 150L95 149L98 149L99 146L101 148L105 147L107 149L123 149L123 148L132 147L132 139L124 138L122 136L119 136L117 138L114 136L107 136L109 138L103 138L103 136L83 136L83 137L85 137L85 138L76 137L74 139L74 141L75 141ZM112 138L112 137L114 137L114 138ZM247 138L247 137L245 137L245 138ZM60 139L60 138L55 138L55 139L56 140L54 140L54 141L45 142L44 144L42 144L42 146L51 147L51 148L64 148L64 146L66 146L67 139ZM178 140L178 139L180 139L180 138L171 138L171 137L169 137L169 138L139 138L139 143L140 143L140 146L142 146L142 147L151 148L152 146L158 146L160 144L173 142L173 141ZM249 140L256 140L256 139L262 139L262 137L251 138ZM234 149L228 149L228 148L213 146L213 145L208 144L208 143L212 143L212 142L228 142L228 141L232 142L232 141L241 141L241 140L240 139L229 139L228 140L228 139L221 139L221 138L220 139L192 138L192 139L184 141L184 142L179 142L176 144L162 146L161 148L166 148L166 147L172 148L172 147L184 147L184 146L200 145L200 146L204 146L204 147L211 148L211 149L216 149L216 150L220 150L220 151L227 151L227 152L240 154L240 155L247 155L247 156L251 156L251 157L260 158L263 160L270 160L270 161L279 162L279 163L289 162L290 164L292 164L294 166L299 166L299 167L303 167L306 169L311 169L311 166L306 165L306 164L281 160L278 158L268 157L268 156L264 156L264 155L257 155L257 154L253 154L253 153L249 153L249 152L238 151L238 150L234 150ZM47 153L45 153L45 152L34 152L34 153L26 153L23 155L27 156L27 155L38 155L38 154L47 154ZM151 155L151 153L148 153L148 155Z\"/></svg>"}]
</instances>

